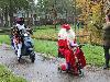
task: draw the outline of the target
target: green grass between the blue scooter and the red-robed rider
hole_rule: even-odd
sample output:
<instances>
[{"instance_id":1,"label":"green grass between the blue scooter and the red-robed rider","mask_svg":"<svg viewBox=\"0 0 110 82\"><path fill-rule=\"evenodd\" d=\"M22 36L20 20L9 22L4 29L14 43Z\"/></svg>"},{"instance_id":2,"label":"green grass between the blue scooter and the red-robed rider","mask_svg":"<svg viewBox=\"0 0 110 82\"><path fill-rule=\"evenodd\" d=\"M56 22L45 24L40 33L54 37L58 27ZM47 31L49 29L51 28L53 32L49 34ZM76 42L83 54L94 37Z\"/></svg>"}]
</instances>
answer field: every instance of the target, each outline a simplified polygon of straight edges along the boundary
<instances>
[{"instance_id":1,"label":"green grass between the blue scooter and the red-robed rider","mask_svg":"<svg viewBox=\"0 0 110 82\"><path fill-rule=\"evenodd\" d=\"M51 40L34 39L35 51L51 56L57 56L57 43Z\"/></svg>"}]
</instances>

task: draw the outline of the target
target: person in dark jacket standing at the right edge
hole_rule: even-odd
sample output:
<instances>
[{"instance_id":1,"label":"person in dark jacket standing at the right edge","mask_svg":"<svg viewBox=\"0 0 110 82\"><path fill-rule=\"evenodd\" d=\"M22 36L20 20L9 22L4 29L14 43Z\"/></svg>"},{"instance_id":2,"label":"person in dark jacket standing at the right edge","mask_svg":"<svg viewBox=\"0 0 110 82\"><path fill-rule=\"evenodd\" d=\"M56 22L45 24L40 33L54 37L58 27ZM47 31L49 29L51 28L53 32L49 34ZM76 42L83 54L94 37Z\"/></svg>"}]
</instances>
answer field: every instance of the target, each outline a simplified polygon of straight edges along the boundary
<instances>
[{"instance_id":1,"label":"person in dark jacket standing at the right edge","mask_svg":"<svg viewBox=\"0 0 110 82\"><path fill-rule=\"evenodd\" d=\"M110 14L106 15L106 24L103 25L103 49L105 49L105 59L106 66L103 69L110 68L109 60L110 60Z\"/></svg>"}]
</instances>

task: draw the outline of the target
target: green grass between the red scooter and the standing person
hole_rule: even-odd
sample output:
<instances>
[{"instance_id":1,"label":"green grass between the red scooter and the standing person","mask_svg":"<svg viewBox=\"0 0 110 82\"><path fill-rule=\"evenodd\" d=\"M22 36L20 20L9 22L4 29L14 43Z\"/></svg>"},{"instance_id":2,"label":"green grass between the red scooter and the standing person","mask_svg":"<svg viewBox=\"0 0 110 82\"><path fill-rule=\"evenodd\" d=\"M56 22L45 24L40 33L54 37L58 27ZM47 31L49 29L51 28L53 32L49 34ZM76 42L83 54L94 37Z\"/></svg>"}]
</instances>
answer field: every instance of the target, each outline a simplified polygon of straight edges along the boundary
<instances>
[{"instance_id":1,"label":"green grass between the red scooter and the standing person","mask_svg":"<svg viewBox=\"0 0 110 82\"><path fill-rule=\"evenodd\" d=\"M86 45L82 47L87 63L92 66L105 65L103 49L101 46Z\"/></svg>"}]
</instances>

